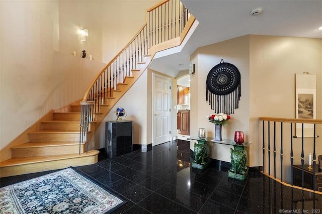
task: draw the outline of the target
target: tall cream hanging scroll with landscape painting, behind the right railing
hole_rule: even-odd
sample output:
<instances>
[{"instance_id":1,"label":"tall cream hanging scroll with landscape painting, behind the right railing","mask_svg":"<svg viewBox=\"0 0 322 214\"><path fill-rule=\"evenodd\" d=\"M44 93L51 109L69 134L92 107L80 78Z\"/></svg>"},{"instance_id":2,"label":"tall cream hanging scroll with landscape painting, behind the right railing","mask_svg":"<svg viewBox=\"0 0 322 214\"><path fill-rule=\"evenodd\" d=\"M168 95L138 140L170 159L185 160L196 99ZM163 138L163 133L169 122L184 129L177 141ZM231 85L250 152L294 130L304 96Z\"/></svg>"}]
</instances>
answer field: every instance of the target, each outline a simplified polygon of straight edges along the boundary
<instances>
[{"instance_id":1,"label":"tall cream hanging scroll with landscape painting, behind the right railing","mask_svg":"<svg viewBox=\"0 0 322 214\"><path fill-rule=\"evenodd\" d=\"M316 75L295 74L296 119L316 119ZM296 137L302 137L302 124L296 124ZM313 124L303 124L303 137L313 137Z\"/></svg>"}]
</instances>

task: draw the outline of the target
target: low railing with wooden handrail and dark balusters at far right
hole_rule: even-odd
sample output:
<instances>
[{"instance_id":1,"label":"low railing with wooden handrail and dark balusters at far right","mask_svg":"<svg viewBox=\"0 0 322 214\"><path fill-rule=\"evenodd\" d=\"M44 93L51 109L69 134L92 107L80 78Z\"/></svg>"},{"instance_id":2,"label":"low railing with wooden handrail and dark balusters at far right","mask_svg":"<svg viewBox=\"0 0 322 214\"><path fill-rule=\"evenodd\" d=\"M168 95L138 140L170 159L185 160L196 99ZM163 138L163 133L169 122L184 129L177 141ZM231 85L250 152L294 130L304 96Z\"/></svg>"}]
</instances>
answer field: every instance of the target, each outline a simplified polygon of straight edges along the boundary
<instances>
[{"instance_id":1,"label":"low railing with wooden handrail and dark balusters at far right","mask_svg":"<svg viewBox=\"0 0 322 214\"><path fill-rule=\"evenodd\" d=\"M260 121L263 172L281 182L295 185L293 166L300 165L300 185L297 186L318 190L315 173L319 170L317 156L322 155L322 120L261 117ZM304 180L305 170L312 174L312 185Z\"/></svg>"}]
</instances>

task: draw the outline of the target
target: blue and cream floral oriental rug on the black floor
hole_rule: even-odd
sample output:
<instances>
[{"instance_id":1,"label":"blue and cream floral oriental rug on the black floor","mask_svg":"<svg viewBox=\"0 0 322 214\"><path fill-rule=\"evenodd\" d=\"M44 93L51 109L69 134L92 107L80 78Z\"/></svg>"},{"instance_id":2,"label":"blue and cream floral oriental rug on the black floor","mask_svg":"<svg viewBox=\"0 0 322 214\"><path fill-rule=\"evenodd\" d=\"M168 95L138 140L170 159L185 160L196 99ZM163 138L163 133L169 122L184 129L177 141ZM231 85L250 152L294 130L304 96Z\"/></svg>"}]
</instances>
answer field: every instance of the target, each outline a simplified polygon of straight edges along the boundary
<instances>
[{"instance_id":1,"label":"blue and cream floral oriental rug on the black floor","mask_svg":"<svg viewBox=\"0 0 322 214\"><path fill-rule=\"evenodd\" d=\"M109 213L124 203L71 168L0 188L0 213Z\"/></svg>"}]
</instances>

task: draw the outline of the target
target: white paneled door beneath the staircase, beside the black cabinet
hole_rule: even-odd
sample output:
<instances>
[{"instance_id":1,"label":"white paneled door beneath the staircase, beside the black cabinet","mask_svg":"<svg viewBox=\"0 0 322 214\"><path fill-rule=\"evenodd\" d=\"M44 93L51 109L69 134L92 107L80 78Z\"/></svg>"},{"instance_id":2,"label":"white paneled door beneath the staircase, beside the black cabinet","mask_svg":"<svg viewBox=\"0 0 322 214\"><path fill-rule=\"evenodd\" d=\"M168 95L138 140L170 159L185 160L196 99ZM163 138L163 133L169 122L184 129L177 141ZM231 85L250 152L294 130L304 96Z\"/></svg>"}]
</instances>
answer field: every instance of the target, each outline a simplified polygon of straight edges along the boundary
<instances>
[{"instance_id":1,"label":"white paneled door beneath the staircase, beside the black cabinet","mask_svg":"<svg viewBox=\"0 0 322 214\"><path fill-rule=\"evenodd\" d=\"M153 144L171 139L171 79L153 74Z\"/></svg>"}]
</instances>

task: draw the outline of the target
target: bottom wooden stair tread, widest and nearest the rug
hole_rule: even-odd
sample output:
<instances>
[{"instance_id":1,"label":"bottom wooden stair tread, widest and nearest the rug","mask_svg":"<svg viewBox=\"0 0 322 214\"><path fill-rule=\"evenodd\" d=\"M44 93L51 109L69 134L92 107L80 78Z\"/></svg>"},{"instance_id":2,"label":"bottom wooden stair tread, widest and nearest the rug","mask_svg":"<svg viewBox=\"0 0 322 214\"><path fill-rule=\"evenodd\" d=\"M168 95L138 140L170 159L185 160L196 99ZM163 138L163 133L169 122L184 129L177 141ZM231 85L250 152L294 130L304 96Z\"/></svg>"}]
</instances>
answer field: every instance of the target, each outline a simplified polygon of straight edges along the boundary
<instances>
[{"instance_id":1,"label":"bottom wooden stair tread, widest and nearest the rug","mask_svg":"<svg viewBox=\"0 0 322 214\"><path fill-rule=\"evenodd\" d=\"M8 167L8 166L18 166L30 163L41 163L55 160L63 160L63 159L71 159L71 158L79 158L86 156L94 156L98 155L100 152L97 150L91 150L88 153L84 152L82 154L67 154L67 155L50 155L50 156L37 156L37 157L24 157L24 158L11 158L0 162L0 167Z\"/></svg>"}]
</instances>

